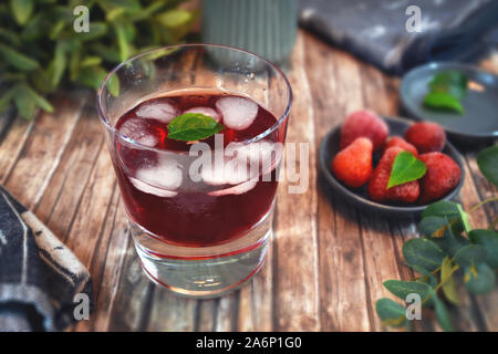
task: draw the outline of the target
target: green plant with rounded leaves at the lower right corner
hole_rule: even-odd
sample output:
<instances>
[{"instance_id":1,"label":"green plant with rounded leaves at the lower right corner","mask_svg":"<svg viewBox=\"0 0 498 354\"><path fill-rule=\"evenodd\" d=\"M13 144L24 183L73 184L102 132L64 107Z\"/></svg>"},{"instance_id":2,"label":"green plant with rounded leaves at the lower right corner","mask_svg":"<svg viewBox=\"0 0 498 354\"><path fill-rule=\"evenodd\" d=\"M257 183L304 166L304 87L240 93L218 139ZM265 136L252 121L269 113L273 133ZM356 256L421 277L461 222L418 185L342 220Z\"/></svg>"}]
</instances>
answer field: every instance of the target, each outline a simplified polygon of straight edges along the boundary
<instances>
[{"instance_id":1,"label":"green plant with rounded leaves at the lower right corner","mask_svg":"<svg viewBox=\"0 0 498 354\"><path fill-rule=\"evenodd\" d=\"M498 146L480 152L477 160L486 178L498 185ZM429 205L418 225L424 237L403 244L406 264L419 277L411 281L384 282L384 287L403 301L411 293L418 294L423 306L434 309L445 331L453 331L454 325L444 299L458 305L458 281L463 281L466 289L476 295L486 294L495 288L498 270L498 232L495 227L498 218L490 222L488 229L473 229L468 218L468 214L492 201L498 201L498 197L484 200L468 212L453 201ZM384 325L411 329L404 305L384 298L375 306Z\"/></svg>"}]
</instances>

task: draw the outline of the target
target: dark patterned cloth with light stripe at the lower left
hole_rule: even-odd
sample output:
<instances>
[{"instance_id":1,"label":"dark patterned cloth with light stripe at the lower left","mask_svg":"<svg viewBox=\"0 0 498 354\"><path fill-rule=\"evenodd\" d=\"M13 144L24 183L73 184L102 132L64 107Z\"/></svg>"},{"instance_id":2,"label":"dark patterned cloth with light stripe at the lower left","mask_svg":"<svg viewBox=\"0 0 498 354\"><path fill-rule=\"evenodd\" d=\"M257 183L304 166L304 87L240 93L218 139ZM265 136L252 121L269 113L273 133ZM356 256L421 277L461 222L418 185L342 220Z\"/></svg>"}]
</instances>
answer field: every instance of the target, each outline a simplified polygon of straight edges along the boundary
<instances>
[{"instance_id":1,"label":"dark patterned cloth with light stripe at the lower left","mask_svg":"<svg viewBox=\"0 0 498 354\"><path fill-rule=\"evenodd\" d=\"M61 331L81 299L92 311L89 271L0 186L0 331Z\"/></svg>"}]
</instances>

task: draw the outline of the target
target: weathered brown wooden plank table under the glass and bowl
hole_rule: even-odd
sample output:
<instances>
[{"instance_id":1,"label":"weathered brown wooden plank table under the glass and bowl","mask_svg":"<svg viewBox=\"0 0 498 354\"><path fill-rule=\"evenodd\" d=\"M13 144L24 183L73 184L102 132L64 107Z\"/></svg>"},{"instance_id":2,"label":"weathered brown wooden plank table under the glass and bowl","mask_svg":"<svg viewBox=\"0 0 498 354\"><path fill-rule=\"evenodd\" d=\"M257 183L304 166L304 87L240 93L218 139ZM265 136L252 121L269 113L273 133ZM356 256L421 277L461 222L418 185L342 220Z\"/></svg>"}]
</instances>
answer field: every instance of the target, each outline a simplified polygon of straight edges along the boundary
<instances>
[{"instance_id":1,"label":"weathered brown wooden plank table under the glass and bowl","mask_svg":"<svg viewBox=\"0 0 498 354\"><path fill-rule=\"evenodd\" d=\"M483 63L498 72L498 58ZM216 300L186 300L153 285L142 272L94 93L52 98L55 114L33 122L0 119L0 183L53 230L90 269L96 309L74 331L382 331L375 301L382 282L411 279L401 248L417 220L386 220L328 196L317 170L321 138L354 110L396 115L398 79L300 31L287 74L294 92L288 142L310 143L310 188L279 187L274 238L267 263L241 290ZM469 208L497 195L465 153L459 201ZM495 206L471 215L486 227ZM465 293L465 292L464 292ZM498 330L498 291L466 296L452 315L459 330ZM419 330L438 330L433 321Z\"/></svg>"}]
</instances>

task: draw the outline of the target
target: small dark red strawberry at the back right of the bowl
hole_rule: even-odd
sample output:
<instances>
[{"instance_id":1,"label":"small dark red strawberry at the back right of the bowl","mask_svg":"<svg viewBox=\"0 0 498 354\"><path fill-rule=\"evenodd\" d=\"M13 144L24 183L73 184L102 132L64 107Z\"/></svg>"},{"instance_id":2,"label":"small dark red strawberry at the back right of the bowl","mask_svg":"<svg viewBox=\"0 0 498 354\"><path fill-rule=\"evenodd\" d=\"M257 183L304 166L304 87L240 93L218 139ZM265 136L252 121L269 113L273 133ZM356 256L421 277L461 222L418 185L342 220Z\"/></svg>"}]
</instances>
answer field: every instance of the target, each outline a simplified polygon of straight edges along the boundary
<instances>
[{"instance_id":1,"label":"small dark red strawberry at the back right of the bowl","mask_svg":"<svg viewBox=\"0 0 498 354\"><path fill-rule=\"evenodd\" d=\"M443 150L446 144L446 134L437 123L421 122L415 123L406 131L405 139L414 145L419 154L425 154Z\"/></svg>"}]
</instances>

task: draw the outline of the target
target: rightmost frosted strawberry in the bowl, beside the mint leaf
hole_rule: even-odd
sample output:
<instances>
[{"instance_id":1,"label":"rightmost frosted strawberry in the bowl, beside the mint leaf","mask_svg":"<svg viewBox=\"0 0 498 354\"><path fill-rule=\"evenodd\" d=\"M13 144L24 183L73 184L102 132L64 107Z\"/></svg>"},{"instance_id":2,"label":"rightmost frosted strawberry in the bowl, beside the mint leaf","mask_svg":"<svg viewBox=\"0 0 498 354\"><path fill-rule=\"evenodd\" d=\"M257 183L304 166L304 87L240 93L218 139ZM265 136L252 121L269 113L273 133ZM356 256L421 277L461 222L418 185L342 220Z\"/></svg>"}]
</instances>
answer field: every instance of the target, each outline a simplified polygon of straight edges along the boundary
<instances>
[{"instance_id":1,"label":"rightmost frosted strawberry in the bowl, beside the mint leaf","mask_svg":"<svg viewBox=\"0 0 498 354\"><path fill-rule=\"evenodd\" d=\"M421 204L443 198L460 181L460 167L448 155L428 153L421 155L419 159L427 166L421 179Z\"/></svg>"}]
</instances>

